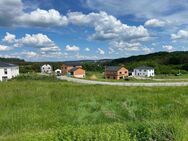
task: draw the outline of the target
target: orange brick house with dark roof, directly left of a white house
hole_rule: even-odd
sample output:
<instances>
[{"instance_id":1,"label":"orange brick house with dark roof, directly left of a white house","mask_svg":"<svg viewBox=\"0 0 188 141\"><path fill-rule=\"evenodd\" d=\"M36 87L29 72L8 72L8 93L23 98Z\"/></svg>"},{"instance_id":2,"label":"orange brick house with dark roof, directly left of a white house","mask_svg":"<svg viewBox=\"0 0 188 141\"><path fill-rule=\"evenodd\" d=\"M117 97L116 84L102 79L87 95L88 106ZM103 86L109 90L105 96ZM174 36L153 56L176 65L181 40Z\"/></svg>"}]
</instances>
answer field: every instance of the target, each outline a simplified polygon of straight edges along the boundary
<instances>
[{"instance_id":1,"label":"orange brick house with dark roof, directly left of a white house","mask_svg":"<svg viewBox=\"0 0 188 141\"><path fill-rule=\"evenodd\" d=\"M124 79L128 77L129 71L122 66L107 66L105 67L104 77L105 79Z\"/></svg>"}]
</instances>

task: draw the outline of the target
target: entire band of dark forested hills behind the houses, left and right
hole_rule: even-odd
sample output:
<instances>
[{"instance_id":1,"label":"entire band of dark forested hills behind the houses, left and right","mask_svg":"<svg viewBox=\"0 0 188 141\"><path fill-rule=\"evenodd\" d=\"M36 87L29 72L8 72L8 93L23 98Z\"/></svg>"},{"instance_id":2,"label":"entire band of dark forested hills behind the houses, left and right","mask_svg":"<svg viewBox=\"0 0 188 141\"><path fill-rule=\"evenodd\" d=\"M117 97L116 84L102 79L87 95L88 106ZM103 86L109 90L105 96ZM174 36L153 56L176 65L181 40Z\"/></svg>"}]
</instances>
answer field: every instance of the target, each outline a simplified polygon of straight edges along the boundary
<instances>
[{"instance_id":1,"label":"entire band of dark forested hills behind the houses, left and right","mask_svg":"<svg viewBox=\"0 0 188 141\"><path fill-rule=\"evenodd\" d=\"M0 61L15 63L20 66L20 72L40 72L40 66L50 64L53 69L60 68L62 62L26 62L16 58L0 58ZM131 56L128 58L119 59L104 59L104 60L80 60L76 61L83 64L87 71L103 72L107 65L124 65L129 70L138 66L152 66L157 74L177 74L188 73L188 51L179 52L158 52L147 55Z\"/></svg>"}]
</instances>

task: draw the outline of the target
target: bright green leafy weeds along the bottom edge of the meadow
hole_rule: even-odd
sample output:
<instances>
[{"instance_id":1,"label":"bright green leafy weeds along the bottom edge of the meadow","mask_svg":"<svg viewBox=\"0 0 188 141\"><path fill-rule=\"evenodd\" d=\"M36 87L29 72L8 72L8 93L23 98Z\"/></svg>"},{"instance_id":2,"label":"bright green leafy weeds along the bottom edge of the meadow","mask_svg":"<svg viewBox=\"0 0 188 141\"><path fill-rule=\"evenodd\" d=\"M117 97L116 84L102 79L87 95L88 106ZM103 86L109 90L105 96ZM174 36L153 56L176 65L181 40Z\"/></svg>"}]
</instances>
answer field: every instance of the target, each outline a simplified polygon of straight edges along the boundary
<instances>
[{"instance_id":1,"label":"bright green leafy weeds along the bottom edge of the meadow","mask_svg":"<svg viewBox=\"0 0 188 141\"><path fill-rule=\"evenodd\" d=\"M26 135L26 141L175 141L178 128L167 123L113 123L111 125L65 126L37 135Z\"/></svg>"}]
</instances>

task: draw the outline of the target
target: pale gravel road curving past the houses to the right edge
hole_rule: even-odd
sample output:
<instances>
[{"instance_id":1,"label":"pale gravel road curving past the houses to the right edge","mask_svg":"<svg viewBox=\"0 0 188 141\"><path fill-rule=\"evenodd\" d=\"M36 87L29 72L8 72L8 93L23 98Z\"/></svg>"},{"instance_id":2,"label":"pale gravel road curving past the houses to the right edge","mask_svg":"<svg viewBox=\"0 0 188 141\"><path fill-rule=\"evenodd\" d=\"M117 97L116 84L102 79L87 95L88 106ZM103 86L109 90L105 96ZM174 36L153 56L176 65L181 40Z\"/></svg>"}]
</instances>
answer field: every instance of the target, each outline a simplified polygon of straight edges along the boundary
<instances>
[{"instance_id":1,"label":"pale gravel road curving past the houses to the right edge","mask_svg":"<svg viewBox=\"0 0 188 141\"><path fill-rule=\"evenodd\" d=\"M146 86L146 87L154 87L154 86L188 86L188 82L150 82L150 83L135 83L135 82L102 82L102 81L92 81L85 79L77 79L70 78L66 76L58 76L60 80L67 80L75 83L81 84L97 84L97 85L115 85L115 86Z\"/></svg>"}]
</instances>

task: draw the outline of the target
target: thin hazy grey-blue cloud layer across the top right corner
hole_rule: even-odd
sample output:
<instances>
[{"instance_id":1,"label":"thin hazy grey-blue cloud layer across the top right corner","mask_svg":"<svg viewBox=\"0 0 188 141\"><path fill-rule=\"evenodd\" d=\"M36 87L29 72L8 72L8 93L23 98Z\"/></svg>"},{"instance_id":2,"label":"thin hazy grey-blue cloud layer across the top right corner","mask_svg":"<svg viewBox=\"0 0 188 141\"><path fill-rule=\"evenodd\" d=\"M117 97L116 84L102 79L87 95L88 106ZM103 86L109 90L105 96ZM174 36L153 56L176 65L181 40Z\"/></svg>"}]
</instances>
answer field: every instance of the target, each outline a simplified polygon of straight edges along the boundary
<instances>
[{"instance_id":1,"label":"thin hazy grey-blue cloud layer across the top right corner","mask_svg":"<svg viewBox=\"0 0 188 141\"><path fill-rule=\"evenodd\" d=\"M113 15L133 15L136 18L158 17L173 23L188 23L187 0L86 0L84 5L94 10L104 10ZM123 10L122 10L123 9ZM178 10L177 10L178 9Z\"/></svg>"}]
</instances>

